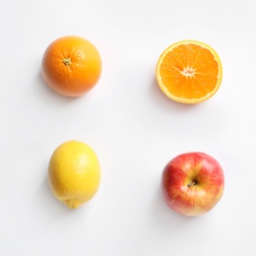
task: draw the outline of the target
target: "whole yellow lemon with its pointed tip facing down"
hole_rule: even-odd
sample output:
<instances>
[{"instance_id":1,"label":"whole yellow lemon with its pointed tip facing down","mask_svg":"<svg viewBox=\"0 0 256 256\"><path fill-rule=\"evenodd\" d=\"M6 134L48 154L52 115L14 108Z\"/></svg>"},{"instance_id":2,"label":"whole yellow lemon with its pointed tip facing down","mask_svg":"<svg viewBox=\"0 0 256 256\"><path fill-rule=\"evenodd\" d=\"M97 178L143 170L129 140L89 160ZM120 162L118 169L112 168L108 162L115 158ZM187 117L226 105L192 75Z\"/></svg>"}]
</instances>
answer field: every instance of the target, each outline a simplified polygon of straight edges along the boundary
<instances>
[{"instance_id":1,"label":"whole yellow lemon with its pointed tip facing down","mask_svg":"<svg viewBox=\"0 0 256 256\"><path fill-rule=\"evenodd\" d=\"M99 182L99 162L87 144L68 141L53 152L48 165L49 187L69 208L76 209L92 199Z\"/></svg>"}]
</instances>

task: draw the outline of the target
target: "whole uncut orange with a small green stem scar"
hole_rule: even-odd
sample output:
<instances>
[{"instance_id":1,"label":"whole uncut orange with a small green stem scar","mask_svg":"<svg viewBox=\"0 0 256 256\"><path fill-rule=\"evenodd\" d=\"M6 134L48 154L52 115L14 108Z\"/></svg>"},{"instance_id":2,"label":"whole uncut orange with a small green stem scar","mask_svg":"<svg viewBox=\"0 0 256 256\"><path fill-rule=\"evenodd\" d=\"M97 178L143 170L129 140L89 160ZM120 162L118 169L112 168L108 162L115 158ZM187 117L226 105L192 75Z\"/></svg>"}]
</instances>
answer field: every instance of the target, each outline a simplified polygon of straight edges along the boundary
<instances>
[{"instance_id":1,"label":"whole uncut orange with a small green stem scar","mask_svg":"<svg viewBox=\"0 0 256 256\"><path fill-rule=\"evenodd\" d=\"M41 74L49 88L63 96L82 96L92 90L101 74L96 46L75 35L49 44L41 62Z\"/></svg>"}]
</instances>

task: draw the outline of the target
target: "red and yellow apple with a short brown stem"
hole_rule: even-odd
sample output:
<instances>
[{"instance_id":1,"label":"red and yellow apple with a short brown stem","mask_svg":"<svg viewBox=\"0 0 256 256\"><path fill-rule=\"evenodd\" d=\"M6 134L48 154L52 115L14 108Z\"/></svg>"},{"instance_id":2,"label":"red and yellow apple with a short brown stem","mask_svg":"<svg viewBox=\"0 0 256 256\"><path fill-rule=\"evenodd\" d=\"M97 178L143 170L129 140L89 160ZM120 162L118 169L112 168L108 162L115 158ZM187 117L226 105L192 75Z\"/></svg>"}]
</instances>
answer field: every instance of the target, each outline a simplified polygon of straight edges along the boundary
<instances>
[{"instance_id":1,"label":"red and yellow apple with a short brown stem","mask_svg":"<svg viewBox=\"0 0 256 256\"><path fill-rule=\"evenodd\" d=\"M199 216L212 210L223 197L224 171L205 153L181 154L165 165L161 190L172 210L184 216Z\"/></svg>"}]
</instances>

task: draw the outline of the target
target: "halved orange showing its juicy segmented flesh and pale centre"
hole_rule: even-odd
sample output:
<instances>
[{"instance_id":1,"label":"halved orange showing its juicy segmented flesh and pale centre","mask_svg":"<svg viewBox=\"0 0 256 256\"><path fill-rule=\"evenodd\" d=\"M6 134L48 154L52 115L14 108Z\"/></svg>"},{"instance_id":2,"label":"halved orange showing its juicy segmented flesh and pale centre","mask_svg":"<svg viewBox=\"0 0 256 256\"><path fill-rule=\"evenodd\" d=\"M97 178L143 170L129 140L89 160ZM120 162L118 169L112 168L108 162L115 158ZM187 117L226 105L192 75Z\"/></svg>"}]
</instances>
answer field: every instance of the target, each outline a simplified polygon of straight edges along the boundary
<instances>
[{"instance_id":1,"label":"halved orange showing its juicy segmented flesh and pale centre","mask_svg":"<svg viewBox=\"0 0 256 256\"><path fill-rule=\"evenodd\" d=\"M160 90L181 103L198 103L219 90L222 62L208 44L195 40L178 41L160 55L156 77Z\"/></svg>"}]
</instances>

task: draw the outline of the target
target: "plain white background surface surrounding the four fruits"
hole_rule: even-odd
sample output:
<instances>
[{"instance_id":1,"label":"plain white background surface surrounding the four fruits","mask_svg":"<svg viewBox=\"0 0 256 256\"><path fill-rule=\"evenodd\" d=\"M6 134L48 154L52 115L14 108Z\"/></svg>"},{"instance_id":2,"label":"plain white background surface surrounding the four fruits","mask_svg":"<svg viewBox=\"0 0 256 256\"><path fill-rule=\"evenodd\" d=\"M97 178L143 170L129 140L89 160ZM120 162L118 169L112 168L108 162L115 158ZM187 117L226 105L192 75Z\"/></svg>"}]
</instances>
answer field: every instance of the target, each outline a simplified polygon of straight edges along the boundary
<instances>
[{"instance_id":1,"label":"plain white background surface surrounding the four fruits","mask_svg":"<svg viewBox=\"0 0 256 256\"><path fill-rule=\"evenodd\" d=\"M0 255L256 255L256 6L241 1L9 0L1 5ZM40 61L57 37L91 40L102 75L86 96L59 96ZM219 53L219 92L176 103L156 83L160 53L196 39ZM69 210L49 191L61 143L89 144L100 161L96 197ZM186 218L162 201L166 162L191 151L222 164L210 213Z\"/></svg>"}]
</instances>

